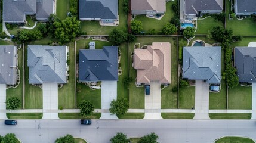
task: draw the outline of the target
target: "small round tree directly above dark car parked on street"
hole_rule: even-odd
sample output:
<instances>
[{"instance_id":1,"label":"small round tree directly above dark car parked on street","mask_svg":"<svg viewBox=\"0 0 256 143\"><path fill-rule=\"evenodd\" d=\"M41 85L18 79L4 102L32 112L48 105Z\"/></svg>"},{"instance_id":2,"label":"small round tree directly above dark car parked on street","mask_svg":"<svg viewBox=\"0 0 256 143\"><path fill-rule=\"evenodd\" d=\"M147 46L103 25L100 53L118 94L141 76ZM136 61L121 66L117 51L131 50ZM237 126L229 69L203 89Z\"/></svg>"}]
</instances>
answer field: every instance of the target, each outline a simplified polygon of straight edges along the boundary
<instances>
[{"instance_id":1,"label":"small round tree directly above dark car parked on street","mask_svg":"<svg viewBox=\"0 0 256 143\"><path fill-rule=\"evenodd\" d=\"M90 116L94 111L94 105L90 101L85 100L78 104L78 108L80 109L80 114L84 117Z\"/></svg>"}]
</instances>

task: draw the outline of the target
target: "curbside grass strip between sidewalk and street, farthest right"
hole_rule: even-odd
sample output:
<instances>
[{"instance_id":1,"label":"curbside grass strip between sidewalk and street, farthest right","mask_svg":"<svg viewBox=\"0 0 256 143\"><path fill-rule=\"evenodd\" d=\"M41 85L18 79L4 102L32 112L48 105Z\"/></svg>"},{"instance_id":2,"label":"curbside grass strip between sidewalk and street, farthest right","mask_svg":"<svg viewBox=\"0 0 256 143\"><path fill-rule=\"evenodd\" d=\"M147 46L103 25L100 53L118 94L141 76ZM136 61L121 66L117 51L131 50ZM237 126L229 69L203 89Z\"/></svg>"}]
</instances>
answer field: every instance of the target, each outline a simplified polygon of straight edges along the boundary
<instances>
[{"instance_id":1,"label":"curbside grass strip between sidewalk and street, farthest right","mask_svg":"<svg viewBox=\"0 0 256 143\"><path fill-rule=\"evenodd\" d=\"M251 119L251 113L209 113L211 119Z\"/></svg>"}]
</instances>

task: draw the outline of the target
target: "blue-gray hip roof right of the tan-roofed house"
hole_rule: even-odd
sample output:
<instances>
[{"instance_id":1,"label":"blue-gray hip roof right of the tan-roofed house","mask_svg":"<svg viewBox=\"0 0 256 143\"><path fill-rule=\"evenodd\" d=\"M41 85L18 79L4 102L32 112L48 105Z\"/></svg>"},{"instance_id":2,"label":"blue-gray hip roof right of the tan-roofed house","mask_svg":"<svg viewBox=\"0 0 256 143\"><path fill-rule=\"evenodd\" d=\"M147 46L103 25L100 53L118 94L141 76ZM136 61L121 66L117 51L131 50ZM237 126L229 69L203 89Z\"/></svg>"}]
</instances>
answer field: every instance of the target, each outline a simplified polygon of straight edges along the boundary
<instances>
[{"instance_id":1,"label":"blue-gray hip roof right of the tan-roofed house","mask_svg":"<svg viewBox=\"0 0 256 143\"><path fill-rule=\"evenodd\" d=\"M220 46L193 46L183 48L183 78L207 80L207 83L220 83Z\"/></svg>"}]
</instances>

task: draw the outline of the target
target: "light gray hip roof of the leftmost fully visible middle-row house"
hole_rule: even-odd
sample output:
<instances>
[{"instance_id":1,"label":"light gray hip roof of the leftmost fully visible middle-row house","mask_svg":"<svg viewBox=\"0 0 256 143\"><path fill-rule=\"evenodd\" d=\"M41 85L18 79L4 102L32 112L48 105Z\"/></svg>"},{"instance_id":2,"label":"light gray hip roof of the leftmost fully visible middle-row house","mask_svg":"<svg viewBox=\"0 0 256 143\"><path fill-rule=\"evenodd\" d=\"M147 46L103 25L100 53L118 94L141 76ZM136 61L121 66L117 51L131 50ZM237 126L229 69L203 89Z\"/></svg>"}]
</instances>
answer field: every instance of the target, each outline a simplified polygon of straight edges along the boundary
<instances>
[{"instance_id":1,"label":"light gray hip roof of the leftmost fully visible middle-row house","mask_svg":"<svg viewBox=\"0 0 256 143\"><path fill-rule=\"evenodd\" d=\"M29 83L66 83L67 46L28 45Z\"/></svg>"}]
</instances>

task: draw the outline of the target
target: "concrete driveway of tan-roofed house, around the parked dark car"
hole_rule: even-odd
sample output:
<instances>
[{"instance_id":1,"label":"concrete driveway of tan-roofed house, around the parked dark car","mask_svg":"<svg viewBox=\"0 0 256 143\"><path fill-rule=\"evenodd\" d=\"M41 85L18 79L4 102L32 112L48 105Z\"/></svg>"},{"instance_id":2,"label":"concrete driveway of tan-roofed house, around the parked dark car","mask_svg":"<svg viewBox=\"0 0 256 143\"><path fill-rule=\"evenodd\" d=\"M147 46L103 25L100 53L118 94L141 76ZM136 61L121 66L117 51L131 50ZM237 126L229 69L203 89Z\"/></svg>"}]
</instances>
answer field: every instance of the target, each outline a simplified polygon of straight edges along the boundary
<instances>
[{"instance_id":1,"label":"concrete driveway of tan-roofed house, around the parked dark car","mask_svg":"<svg viewBox=\"0 0 256 143\"><path fill-rule=\"evenodd\" d=\"M161 116L161 84L150 82L150 95L145 95L144 119L162 119Z\"/></svg>"}]
</instances>

